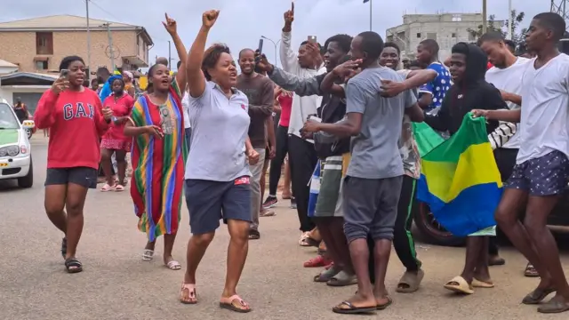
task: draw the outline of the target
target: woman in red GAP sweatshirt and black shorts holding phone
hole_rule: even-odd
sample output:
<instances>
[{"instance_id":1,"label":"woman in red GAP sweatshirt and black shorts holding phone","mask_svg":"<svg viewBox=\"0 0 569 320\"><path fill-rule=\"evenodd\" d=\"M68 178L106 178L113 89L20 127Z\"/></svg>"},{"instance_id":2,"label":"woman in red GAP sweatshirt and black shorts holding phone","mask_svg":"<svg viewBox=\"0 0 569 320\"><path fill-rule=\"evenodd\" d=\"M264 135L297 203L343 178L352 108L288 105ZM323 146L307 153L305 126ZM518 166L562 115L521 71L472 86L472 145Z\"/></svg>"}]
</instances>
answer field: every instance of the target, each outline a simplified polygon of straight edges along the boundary
<instances>
[{"instance_id":1,"label":"woman in red GAP sweatshirt and black shorts holding phone","mask_svg":"<svg viewBox=\"0 0 569 320\"><path fill-rule=\"evenodd\" d=\"M99 137L107 131L112 111L103 109L97 93L83 86L83 59L63 58L60 71L62 76L39 100L34 121L39 129L50 130L45 212L64 233L61 254L68 272L76 273L83 270L76 247L83 231L85 197L89 188L97 187Z\"/></svg>"}]
</instances>

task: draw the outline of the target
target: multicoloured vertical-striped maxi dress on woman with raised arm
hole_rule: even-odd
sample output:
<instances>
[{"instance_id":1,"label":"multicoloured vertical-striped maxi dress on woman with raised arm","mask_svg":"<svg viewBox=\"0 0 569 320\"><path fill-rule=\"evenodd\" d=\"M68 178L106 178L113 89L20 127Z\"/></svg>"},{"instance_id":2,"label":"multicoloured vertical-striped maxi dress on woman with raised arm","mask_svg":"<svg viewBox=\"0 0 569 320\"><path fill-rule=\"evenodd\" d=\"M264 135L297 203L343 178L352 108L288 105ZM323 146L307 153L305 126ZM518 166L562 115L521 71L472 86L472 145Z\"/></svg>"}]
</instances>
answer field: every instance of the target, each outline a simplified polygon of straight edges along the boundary
<instances>
[{"instance_id":1,"label":"multicoloured vertical-striped maxi dress on woman with raised arm","mask_svg":"<svg viewBox=\"0 0 569 320\"><path fill-rule=\"evenodd\" d=\"M172 79L168 100L156 106L144 94L132 107L132 123L162 127L164 138L141 134L132 140L131 196L138 228L148 235L172 235L180 224L181 195L188 150L180 88Z\"/></svg>"}]
</instances>

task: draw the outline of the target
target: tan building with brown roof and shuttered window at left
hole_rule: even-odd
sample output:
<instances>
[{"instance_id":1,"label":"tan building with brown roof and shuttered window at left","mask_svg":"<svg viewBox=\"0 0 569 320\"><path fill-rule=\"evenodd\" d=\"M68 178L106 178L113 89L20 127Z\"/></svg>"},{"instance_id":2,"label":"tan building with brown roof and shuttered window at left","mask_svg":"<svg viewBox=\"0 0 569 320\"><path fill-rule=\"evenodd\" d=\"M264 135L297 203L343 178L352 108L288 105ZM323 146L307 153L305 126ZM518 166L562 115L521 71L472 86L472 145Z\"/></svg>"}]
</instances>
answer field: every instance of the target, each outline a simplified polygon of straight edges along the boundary
<instances>
[{"instance_id":1,"label":"tan building with brown roof and shuttered window at left","mask_svg":"<svg viewBox=\"0 0 569 320\"><path fill-rule=\"evenodd\" d=\"M108 27L107 25L108 24ZM145 28L120 22L89 20L91 71L100 67L125 70L148 67L153 45ZM87 62L87 22L84 17L55 15L0 23L0 59L19 66L20 72L57 72L60 60L78 55ZM112 51L108 44L112 37Z\"/></svg>"}]
</instances>

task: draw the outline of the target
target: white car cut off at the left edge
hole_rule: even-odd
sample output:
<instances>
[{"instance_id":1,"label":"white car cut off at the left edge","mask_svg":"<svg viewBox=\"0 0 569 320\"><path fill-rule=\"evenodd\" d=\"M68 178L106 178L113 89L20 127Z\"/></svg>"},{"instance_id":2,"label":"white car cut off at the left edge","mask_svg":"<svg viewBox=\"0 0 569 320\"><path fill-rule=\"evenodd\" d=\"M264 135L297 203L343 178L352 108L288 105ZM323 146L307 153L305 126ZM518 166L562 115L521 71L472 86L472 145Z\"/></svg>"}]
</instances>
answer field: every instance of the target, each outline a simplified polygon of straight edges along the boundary
<instances>
[{"instance_id":1,"label":"white car cut off at the left edge","mask_svg":"<svg viewBox=\"0 0 569 320\"><path fill-rule=\"evenodd\" d=\"M20 124L12 106L0 100L0 180L17 179L20 188L34 184L31 146L28 129L35 126L33 120Z\"/></svg>"}]
</instances>

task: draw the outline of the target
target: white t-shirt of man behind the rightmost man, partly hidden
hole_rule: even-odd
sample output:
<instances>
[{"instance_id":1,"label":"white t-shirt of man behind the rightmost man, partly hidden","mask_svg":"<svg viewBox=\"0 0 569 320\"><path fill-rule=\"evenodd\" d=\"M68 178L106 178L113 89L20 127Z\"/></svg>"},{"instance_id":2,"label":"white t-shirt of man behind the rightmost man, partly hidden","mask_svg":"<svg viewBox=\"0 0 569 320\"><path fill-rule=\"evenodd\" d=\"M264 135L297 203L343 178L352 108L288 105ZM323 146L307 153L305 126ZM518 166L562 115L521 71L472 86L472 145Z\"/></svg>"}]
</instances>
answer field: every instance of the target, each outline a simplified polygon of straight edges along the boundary
<instances>
[{"instance_id":1,"label":"white t-shirt of man behind the rightmost man, partly hidden","mask_svg":"<svg viewBox=\"0 0 569 320\"><path fill-rule=\"evenodd\" d=\"M527 58L519 57L516 62L508 68L492 67L486 71L486 82L493 84L496 88L520 95L522 93L521 79L525 73ZM510 110L520 108L514 102L507 101ZM519 129L519 127L518 127ZM519 133L514 134L501 148L519 148Z\"/></svg>"}]
</instances>

